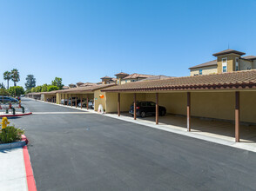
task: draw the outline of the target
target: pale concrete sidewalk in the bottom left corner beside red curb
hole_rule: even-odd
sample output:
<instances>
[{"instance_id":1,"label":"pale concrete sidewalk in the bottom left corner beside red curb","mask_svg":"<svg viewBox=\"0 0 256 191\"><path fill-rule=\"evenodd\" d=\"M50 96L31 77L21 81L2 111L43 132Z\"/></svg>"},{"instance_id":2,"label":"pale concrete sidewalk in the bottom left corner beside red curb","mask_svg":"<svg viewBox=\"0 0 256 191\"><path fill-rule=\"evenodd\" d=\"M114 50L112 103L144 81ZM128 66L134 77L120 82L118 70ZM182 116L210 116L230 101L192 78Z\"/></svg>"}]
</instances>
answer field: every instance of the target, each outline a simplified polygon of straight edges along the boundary
<instances>
[{"instance_id":1,"label":"pale concrete sidewalk in the bottom left corner beside red curb","mask_svg":"<svg viewBox=\"0 0 256 191\"><path fill-rule=\"evenodd\" d=\"M0 189L28 190L23 148L0 150Z\"/></svg>"}]
</instances>

